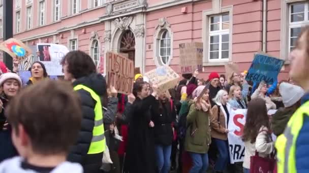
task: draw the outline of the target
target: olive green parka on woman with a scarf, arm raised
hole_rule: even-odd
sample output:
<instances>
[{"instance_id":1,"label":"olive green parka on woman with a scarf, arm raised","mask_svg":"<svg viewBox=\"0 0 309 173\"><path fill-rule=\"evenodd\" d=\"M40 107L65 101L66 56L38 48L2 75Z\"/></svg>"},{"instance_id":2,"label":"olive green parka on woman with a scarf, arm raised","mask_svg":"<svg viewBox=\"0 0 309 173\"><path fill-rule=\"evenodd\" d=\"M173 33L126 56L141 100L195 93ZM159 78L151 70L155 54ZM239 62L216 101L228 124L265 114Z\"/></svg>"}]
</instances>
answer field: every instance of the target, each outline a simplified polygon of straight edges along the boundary
<instances>
[{"instance_id":1,"label":"olive green parka on woman with a scarf, arm raised","mask_svg":"<svg viewBox=\"0 0 309 173\"><path fill-rule=\"evenodd\" d=\"M189 103L190 110L187 116L187 129L186 141L184 148L186 151L193 153L207 153L211 143L210 126L209 126L209 112L197 110L195 103ZM192 132L195 130L194 136Z\"/></svg>"}]
</instances>

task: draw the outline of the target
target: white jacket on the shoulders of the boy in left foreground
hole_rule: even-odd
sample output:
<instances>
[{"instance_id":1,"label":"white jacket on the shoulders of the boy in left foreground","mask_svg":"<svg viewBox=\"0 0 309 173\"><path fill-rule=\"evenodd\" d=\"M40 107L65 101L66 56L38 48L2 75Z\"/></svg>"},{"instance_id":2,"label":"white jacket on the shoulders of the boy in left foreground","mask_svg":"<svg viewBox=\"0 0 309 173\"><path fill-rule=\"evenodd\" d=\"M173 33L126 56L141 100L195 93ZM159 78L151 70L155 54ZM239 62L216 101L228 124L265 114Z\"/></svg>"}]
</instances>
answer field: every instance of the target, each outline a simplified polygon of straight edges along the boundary
<instances>
[{"instance_id":1,"label":"white jacket on the shoulders of the boy in left foreground","mask_svg":"<svg viewBox=\"0 0 309 173\"><path fill-rule=\"evenodd\" d=\"M14 157L3 161L0 164L0 173L38 173L34 170L23 169L21 167L21 162L24 159L22 157ZM83 168L78 163L63 162L56 166L50 173L82 173Z\"/></svg>"}]
</instances>

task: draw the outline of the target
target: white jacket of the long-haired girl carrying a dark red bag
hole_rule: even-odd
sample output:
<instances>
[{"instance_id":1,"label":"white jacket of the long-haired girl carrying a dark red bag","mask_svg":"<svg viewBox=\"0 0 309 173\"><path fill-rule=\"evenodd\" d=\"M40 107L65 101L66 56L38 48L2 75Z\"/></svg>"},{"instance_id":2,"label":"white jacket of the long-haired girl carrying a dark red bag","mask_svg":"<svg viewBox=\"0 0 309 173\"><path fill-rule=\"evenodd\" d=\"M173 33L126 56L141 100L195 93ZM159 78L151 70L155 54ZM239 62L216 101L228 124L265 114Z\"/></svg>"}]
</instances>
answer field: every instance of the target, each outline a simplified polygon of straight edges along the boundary
<instances>
[{"instance_id":1,"label":"white jacket of the long-haired girl carrying a dark red bag","mask_svg":"<svg viewBox=\"0 0 309 173\"><path fill-rule=\"evenodd\" d=\"M255 155L255 151L257 151L261 157L266 157L273 152L274 142L267 143L267 141L269 141L269 135L267 132L268 128L262 126L255 143L251 144L250 141L244 142L245 151L242 164L244 168L250 169L250 157Z\"/></svg>"}]
</instances>

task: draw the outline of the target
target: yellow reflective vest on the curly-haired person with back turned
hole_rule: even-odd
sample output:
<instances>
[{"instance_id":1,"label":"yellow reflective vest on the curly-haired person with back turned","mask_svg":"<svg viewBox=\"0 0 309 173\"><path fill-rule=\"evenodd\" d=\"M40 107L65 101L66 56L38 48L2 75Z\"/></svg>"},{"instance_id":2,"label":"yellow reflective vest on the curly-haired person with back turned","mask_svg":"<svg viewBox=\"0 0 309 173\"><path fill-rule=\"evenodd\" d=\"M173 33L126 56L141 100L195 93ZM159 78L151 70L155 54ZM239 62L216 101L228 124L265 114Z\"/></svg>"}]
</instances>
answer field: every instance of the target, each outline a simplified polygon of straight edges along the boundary
<instances>
[{"instance_id":1,"label":"yellow reflective vest on the curly-haired person with back turned","mask_svg":"<svg viewBox=\"0 0 309 173\"><path fill-rule=\"evenodd\" d=\"M90 93L92 99L97 104L95 106L95 126L92 130L92 139L87 154L98 154L105 151L105 136L104 136L104 124L103 124L103 111L100 97L85 85L78 84L74 87L74 90L85 90Z\"/></svg>"}]
</instances>

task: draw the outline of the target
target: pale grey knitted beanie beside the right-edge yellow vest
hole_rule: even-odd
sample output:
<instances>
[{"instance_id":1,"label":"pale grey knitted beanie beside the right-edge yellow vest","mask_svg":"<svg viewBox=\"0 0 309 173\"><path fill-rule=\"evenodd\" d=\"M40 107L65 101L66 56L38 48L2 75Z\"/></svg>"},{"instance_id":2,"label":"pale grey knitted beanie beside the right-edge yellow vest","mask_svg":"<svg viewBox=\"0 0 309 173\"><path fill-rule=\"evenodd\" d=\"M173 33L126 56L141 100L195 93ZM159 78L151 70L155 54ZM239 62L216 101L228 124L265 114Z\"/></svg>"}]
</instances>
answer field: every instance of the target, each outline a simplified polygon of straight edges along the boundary
<instances>
[{"instance_id":1,"label":"pale grey knitted beanie beside the right-edge yellow vest","mask_svg":"<svg viewBox=\"0 0 309 173\"><path fill-rule=\"evenodd\" d=\"M302 88L287 82L282 82L279 86L279 92L285 107L291 107L298 102L305 94Z\"/></svg>"}]
</instances>

